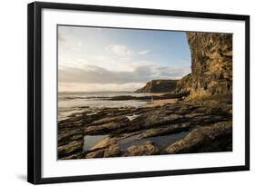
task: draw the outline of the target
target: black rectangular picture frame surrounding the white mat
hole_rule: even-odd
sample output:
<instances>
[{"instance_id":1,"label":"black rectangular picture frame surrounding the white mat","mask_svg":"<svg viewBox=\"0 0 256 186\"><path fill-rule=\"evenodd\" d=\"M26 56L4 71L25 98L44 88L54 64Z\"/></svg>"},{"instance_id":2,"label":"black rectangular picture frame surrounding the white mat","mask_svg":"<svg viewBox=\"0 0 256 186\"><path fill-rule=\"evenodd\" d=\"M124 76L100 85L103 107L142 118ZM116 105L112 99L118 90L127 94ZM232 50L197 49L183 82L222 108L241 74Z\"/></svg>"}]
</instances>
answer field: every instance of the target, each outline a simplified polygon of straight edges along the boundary
<instances>
[{"instance_id":1,"label":"black rectangular picture frame surrounding the white mat","mask_svg":"<svg viewBox=\"0 0 256 186\"><path fill-rule=\"evenodd\" d=\"M55 178L42 178L42 73L41 73L41 32L42 9L78 10L109 12L117 14L164 15L210 19L239 20L245 22L245 164L240 166L210 167L175 171L144 171L113 174L81 175ZM250 16L209 14L198 12L142 9L101 5L75 5L35 2L27 6L27 181L34 184L70 181L100 181L140 177L198 174L223 171L250 170Z\"/></svg>"}]
</instances>

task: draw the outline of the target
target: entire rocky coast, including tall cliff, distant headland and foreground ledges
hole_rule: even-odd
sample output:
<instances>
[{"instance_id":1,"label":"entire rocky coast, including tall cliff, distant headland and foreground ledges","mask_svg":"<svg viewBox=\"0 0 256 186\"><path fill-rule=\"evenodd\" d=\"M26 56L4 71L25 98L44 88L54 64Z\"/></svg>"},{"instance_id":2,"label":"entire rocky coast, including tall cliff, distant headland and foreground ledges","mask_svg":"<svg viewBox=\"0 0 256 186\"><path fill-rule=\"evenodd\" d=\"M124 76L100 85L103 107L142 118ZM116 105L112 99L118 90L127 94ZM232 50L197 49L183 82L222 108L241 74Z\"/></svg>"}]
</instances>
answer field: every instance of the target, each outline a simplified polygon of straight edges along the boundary
<instances>
[{"instance_id":1,"label":"entire rocky coast, including tall cliff, distant headland and foreground ledges","mask_svg":"<svg viewBox=\"0 0 256 186\"><path fill-rule=\"evenodd\" d=\"M136 91L169 93L101 98L161 104L76 108L79 113L58 122L58 159L231 152L232 34L186 35L191 73L178 81L153 80ZM85 148L92 139L97 142Z\"/></svg>"}]
</instances>

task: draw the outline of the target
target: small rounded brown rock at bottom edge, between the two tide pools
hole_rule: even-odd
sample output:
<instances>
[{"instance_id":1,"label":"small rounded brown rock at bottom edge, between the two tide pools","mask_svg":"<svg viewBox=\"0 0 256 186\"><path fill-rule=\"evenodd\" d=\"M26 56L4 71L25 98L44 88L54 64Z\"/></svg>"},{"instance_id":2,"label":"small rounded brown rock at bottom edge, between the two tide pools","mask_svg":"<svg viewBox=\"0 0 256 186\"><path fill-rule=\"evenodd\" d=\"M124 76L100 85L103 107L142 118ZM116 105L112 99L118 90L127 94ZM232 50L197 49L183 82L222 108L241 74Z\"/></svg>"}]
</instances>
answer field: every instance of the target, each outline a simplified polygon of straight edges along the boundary
<instances>
[{"instance_id":1,"label":"small rounded brown rock at bottom edge, between the two tide pools","mask_svg":"<svg viewBox=\"0 0 256 186\"><path fill-rule=\"evenodd\" d=\"M151 143L129 146L126 152L127 156L142 156L156 154L159 154L159 149Z\"/></svg>"}]
</instances>

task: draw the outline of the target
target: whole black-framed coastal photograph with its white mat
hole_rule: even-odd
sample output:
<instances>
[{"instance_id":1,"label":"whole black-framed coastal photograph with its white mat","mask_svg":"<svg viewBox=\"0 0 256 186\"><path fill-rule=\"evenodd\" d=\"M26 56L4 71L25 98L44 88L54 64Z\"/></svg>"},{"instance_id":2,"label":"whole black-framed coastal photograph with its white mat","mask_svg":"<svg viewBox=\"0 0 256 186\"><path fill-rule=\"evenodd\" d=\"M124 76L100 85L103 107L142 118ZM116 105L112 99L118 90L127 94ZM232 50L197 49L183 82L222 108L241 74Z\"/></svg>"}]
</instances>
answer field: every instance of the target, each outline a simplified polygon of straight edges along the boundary
<instances>
[{"instance_id":1,"label":"whole black-framed coastal photograph with its white mat","mask_svg":"<svg viewBox=\"0 0 256 186\"><path fill-rule=\"evenodd\" d=\"M31 183L250 169L250 16L28 5Z\"/></svg>"}]
</instances>

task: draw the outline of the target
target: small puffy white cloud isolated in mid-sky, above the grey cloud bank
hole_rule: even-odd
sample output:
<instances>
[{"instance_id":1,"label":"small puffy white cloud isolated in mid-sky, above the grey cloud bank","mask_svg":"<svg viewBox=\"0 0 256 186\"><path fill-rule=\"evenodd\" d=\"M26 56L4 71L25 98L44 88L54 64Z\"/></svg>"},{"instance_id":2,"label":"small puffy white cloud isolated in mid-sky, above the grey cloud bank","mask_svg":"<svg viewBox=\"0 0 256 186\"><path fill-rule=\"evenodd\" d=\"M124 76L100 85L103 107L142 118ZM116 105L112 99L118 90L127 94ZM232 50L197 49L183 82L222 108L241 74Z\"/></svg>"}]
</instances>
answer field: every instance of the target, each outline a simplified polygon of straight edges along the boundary
<instances>
[{"instance_id":1,"label":"small puffy white cloud isolated in mid-sky, above the grey cloud bank","mask_svg":"<svg viewBox=\"0 0 256 186\"><path fill-rule=\"evenodd\" d=\"M121 57L129 57L130 55L134 54L132 50L130 50L126 45L123 44L111 44L107 46L107 51L117 54Z\"/></svg>"}]
</instances>

